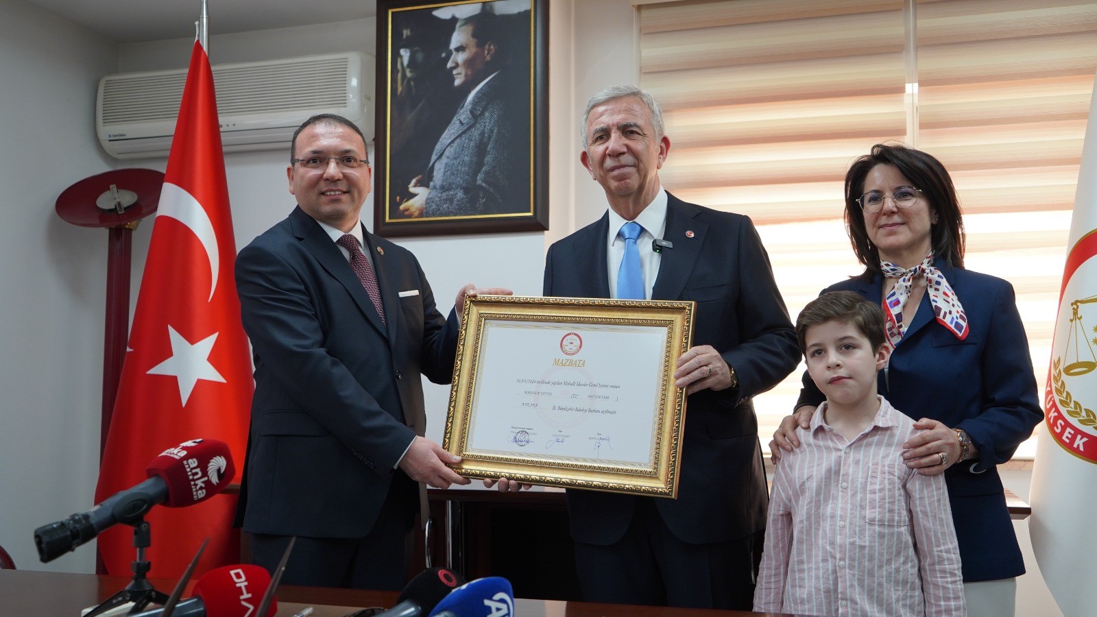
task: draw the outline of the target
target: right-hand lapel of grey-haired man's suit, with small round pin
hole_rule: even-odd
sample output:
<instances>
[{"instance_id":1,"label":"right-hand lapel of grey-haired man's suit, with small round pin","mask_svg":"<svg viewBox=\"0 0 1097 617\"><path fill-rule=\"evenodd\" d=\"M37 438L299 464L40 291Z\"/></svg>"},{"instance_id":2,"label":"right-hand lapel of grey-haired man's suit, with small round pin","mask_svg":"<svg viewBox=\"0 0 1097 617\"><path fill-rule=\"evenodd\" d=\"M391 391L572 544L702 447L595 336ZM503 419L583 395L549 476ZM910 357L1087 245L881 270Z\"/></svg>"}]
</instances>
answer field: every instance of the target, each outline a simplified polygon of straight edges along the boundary
<instances>
[{"instance_id":1,"label":"right-hand lapel of grey-haired man's suit, with small round pin","mask_svg":"<svg viewBox=\"0 0 1097 617\"><path fill-rule=\"evenodd\" d=\"M653 300L681 298L709 232L709 225L697 217L700 213L699 207L667 193L667 226L663 238L675 246L664 248L660 254L659 274L652 289ZM687 235L687 232L692 232L692 236Z\"/></svg>"}]
</instances>

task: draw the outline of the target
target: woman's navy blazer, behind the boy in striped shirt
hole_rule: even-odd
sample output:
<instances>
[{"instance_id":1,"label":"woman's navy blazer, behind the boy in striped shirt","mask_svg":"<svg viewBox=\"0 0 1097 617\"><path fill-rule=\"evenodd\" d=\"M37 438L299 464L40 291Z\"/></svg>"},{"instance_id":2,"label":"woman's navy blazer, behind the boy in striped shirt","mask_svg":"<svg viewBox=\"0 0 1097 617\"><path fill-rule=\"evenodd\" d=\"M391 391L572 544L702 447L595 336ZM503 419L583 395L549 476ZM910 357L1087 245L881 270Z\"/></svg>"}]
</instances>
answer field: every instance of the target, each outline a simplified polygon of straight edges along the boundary
<instances>
[{"instance_id":1,"label":"woman's navy blazer, behind the boy in striped shirt","mask_svg":"<svg viewBox=\"0 0 1097 617\"><path fill-rule=\"evenodd\" d=\"M964 429L979 448L977 461L945 471L963 580L1019 576L1025 562L995 465L1009 460L1043 418L1025 325L1007 281L941 259L935 266L955 291L971 329L958 339L937 322L924 295L887 371L880 371L879 391L912 418ZM880 274L861 276L823 291L851 290L879 304L882 281ZM806 371L803 383L796 406L821 403L823 394Z\"/></svg>"}]
</instances>

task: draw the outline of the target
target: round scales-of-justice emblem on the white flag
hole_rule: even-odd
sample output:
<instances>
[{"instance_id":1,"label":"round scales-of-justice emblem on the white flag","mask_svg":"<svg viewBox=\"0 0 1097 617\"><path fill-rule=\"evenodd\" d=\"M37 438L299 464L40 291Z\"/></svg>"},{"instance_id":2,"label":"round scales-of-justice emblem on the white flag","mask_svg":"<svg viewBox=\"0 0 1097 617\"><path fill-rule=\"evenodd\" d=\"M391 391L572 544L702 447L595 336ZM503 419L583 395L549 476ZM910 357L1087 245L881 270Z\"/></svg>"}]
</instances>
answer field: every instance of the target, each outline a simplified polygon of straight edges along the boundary
<instances>
[{"instance_id":1,"label":"round scales-of-justice emblem on the white flag","mask_svg":"<svg viewBox=\"0 0 1097 617\"><path fill-rule=\"evenodd\" d=\"M1059 344L1063 344L1063 355L1053 354L1045 406L1048 427L1055 440L1075 456L1097 462L1097 414L1086 406L1097 397L1097 382L1095 375L1089 374L1097 369L1097 351L1094 350L1097 326L1093 327L1090 338L1082 312L1084 304L1094 303L1097 303L1097 295L1071 301L1065 339L1055 341L1056 352ZM1074 386L1074 392L1070 385Z\"/></svg>"}]
</instances>

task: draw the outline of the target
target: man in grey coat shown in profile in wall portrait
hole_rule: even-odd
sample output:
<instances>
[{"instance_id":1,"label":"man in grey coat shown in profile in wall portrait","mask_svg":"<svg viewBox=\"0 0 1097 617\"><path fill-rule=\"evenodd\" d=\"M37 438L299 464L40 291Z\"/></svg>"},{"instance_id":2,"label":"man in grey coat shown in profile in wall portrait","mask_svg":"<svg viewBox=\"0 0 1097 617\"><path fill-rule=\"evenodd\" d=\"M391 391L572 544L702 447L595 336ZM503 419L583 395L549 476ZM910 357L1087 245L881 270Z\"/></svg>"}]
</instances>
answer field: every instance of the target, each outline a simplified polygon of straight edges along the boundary
<instances>
[{"instance_id":1,"label":"man in grey coat shown in profile in wall portrait","mask_svg":"<svg viewBox=\"0 0 1097 617\"><path fill-rule=\"evenodd\" d=\"M467 92L434 145L426 175L400 205L411 217L472 216L530 210L529 87L504 69L501 18L477 13L457 22L450 41L453 86ZM528 72L527 72L528 75Z\"/></svg>"}]
</instances>

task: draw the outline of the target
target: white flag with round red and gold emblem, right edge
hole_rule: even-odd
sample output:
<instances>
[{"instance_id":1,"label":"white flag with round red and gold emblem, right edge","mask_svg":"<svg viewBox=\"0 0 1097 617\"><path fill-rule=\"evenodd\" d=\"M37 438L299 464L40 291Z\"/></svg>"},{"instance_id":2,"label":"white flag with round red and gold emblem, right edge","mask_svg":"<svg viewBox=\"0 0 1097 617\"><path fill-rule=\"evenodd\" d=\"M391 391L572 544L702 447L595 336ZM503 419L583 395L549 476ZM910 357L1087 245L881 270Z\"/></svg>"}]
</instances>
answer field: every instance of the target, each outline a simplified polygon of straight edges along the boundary
<instances>
[{"instance_id":1,"label":"white flag with round red and gold emblem, right edge","mask_svg":"<svg viewBox=\"0 0 1097 617\"><path fill-rule=\"evenodd\" d=\"M1097 92L1089 110L1032 470L1029 535L1065 617L1097 615Z\"/></svg>"}]
</instances>

